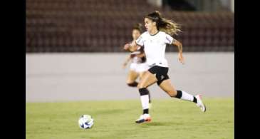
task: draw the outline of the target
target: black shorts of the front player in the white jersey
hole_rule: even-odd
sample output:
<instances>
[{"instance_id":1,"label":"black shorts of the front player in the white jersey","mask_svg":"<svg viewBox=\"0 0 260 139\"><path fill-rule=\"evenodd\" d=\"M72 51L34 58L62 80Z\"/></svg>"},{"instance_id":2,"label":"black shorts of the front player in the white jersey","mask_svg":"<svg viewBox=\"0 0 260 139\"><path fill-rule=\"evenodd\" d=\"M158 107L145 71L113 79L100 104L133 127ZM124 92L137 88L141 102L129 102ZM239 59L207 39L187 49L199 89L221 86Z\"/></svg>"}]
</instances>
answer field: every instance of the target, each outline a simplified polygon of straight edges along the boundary
<instances>
[{"instance_id":1,"label":"black shorts of the front player in the white jersey","mask_svg":"<svg viewBox=\"0 0 260 139\"><path fill-rule=\"evenodd\" d=\"M168 76L168 71L169 68L167 67L162 67L162 66L152 66L151 68L149 68L148 70L150 73L152 74L156 74L156 78L157 78L157 85L160 86L160 84L162 83L162 81L165 81L169 78Z\"/></svg>"}]
</instances>

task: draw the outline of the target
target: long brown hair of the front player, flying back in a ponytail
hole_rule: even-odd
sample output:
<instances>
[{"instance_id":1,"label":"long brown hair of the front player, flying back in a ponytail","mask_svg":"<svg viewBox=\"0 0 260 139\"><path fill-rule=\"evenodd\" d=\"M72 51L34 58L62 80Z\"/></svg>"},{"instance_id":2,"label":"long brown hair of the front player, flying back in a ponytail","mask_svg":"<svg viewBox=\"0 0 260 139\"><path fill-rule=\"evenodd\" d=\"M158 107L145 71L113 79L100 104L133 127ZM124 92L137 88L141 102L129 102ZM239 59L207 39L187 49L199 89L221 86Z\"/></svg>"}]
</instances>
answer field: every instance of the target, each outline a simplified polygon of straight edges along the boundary
<instances>
[{"instance_id":1,"label":"long brown hair of the front player, flying back in a ponytail","mask_svg":"<svg viewBox=\"0 0 260 139\"><path fill-rule=\"evenodd\" d=\"M145 16L145 18L155 21L157 29L159 31L165 31L165 33L169 34L170 36L177 35L177 32L181 31L179 24L172 20L162 18L159 11L154 11Z\"/></svg>"}]
</instances>

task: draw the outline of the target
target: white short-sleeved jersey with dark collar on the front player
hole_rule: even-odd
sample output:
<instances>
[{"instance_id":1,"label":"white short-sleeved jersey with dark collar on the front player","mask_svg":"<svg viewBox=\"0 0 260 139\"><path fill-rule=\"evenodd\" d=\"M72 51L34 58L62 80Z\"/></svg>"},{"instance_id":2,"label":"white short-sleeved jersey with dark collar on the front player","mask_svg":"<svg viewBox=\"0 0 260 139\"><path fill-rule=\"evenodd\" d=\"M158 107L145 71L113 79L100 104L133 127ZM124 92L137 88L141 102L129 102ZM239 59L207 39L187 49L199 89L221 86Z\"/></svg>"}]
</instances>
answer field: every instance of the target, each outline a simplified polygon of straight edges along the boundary
<instances>
[{"instance_id":1,"label":"white short-sleeved jersey with dark collar on the front player","mask_svg":"<svg viewBox=\"0 0 260 139\"><path fill-rule=\"evenodd\" d=\"M175 38L165 34L163 31L158 31L157 34L150 35L148 31L145 31L135 43L139 46L144 46L145 55L147 58L147 64L149 66L157 65L162 67L168 67L167 60L165 58L166 44L173 43Z\"/></svg>"}]
</instances>

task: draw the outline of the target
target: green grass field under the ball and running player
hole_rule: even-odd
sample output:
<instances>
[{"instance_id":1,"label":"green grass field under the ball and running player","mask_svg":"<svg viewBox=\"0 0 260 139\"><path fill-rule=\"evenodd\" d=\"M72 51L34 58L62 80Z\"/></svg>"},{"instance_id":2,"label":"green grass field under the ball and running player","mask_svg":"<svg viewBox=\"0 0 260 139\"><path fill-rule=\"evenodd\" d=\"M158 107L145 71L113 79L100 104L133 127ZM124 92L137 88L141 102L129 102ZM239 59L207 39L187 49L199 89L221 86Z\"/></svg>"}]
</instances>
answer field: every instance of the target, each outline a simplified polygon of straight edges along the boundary
<instances>
[{"instance_id":1,"label":"green grass field under the ball and running player","mask_svg":"<svg viewBox=\"0 0 260 139\"><path fill-rule=\"evenodd\" d=\"M207 112L175 98L152 100L150 123L136 124L136 101L26 103L26 139L80 138L234 138L234 99L204 99ZM80 115L94 118L93 128L78 127Z\"/></svg>"}]
</instances>

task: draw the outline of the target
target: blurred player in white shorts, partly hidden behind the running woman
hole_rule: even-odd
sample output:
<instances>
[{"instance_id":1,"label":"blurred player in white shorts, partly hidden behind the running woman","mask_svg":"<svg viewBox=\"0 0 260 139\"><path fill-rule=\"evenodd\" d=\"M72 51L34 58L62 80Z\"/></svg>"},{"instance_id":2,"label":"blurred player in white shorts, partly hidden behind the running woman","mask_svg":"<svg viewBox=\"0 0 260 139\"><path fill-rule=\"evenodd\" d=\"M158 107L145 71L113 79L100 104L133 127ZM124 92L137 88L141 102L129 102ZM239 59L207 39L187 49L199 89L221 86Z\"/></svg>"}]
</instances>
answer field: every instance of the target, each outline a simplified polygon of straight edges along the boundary
<instances>
[{"instance_id":1,"label":"blurred player in white shorts, partly hidden behind the running woman","mask_svg":"<svg viewBox=\"0 0 260 139\"><path fill-rule=\"evenodd\" d=\"M133 41L136 41L136 39L141 35L142 33L142 24L136 24L132 28L132 39ZM129 51L126 49L126 51ZM131 87L137 87L137 81L136 79L138 76L142 78L145 71L148 70L148 65L146 63L146 57L145 57L145 51L143 48L140 48L132 53L130 53L130 56L127 58L127 60L123 63L123 68L128 65L128 62L132 61L130 64L130 71L128 73L128 78L126 83L128 86ZM148 93L149 96L149 103L150 101L150 93Z\"/></svg>"}]
</instances>

